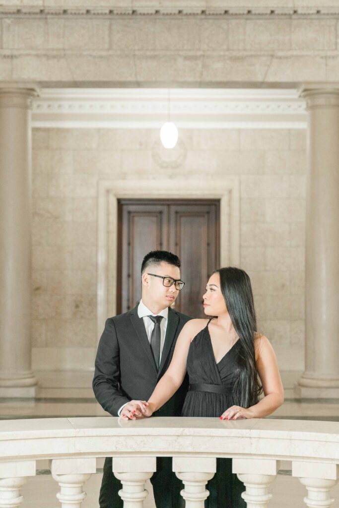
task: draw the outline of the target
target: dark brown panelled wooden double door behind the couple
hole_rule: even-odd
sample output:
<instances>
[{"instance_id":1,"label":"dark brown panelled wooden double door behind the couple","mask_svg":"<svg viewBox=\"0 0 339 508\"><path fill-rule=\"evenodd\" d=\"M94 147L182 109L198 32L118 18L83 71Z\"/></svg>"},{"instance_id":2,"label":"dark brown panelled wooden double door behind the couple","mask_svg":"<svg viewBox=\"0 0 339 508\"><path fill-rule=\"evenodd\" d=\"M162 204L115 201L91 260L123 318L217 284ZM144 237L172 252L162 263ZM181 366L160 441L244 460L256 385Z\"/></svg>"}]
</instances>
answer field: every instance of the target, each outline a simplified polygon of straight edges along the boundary
<instances>
[{"instance_id":1,"label":"dark brown panelled wooden double door behind the couple","mask_svg":"<svg viewBox=\"0 0 339 508\"><path fill-rule=\"evenodd\" d=\"M120 200L118 202L117 311L141 298L140 267L150 250L169 250L181 261L186 282L174 308L203 317L202 295L219 267L220 204L217 200Z\"/></svg>"}]
</instances>

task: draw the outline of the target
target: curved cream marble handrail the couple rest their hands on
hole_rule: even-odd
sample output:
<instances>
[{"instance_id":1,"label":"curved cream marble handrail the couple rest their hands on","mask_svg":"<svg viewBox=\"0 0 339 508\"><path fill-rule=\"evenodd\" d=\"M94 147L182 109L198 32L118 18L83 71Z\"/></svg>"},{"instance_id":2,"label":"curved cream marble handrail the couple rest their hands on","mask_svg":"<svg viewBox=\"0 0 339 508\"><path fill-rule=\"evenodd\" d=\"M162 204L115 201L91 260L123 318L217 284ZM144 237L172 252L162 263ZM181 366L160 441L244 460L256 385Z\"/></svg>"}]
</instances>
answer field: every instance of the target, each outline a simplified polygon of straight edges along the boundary
<instances>
[{"instance_id":1,"label":"curved cream marble handrail the couple rest their hands on","mask_svg":"<svg viewBox=\"0 0 339 508\"><path fill-rule=\"evenodd\" d=\"M199 456L339 463L339 423L114 417L0 421L0 463L69 457Z\"/></svg>"}]
</instances>

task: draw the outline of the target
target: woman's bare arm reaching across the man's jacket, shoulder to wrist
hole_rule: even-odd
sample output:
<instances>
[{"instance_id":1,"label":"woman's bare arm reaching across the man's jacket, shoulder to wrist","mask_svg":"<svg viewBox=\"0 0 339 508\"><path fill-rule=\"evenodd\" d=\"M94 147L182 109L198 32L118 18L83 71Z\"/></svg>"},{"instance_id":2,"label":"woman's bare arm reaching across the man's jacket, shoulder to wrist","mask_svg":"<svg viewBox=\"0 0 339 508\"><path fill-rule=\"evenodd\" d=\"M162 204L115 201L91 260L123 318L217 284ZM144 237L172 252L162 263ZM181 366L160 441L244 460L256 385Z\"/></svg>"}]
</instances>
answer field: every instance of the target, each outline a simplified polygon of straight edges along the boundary
<instances>
[{"instance_id":1,"label":"woman's bare arm reaching across the man's jacket, shoulder to wrist","mask_svg":"<svg viewBox=\"0 0 339 508\"><path fill-rule=\"evenodd\" d=\"M170 366L160 379L152 395L148 399L148 412L155 412L167 402L177 391L186 374L187 356L192 338L206 325L206 320L191 320L182 328L175 344Z\"/></svg>"}]
</instances>

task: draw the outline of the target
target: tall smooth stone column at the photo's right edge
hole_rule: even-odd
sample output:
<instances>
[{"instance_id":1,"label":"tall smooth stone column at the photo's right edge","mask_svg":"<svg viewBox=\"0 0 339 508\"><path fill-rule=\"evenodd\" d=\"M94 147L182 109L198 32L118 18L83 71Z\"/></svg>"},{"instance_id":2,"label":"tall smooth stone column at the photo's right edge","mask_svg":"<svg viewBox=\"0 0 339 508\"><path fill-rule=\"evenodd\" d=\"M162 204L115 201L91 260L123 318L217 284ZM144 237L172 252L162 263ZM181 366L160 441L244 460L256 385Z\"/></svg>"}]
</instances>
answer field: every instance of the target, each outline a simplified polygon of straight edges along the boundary
<instances>
[{"instance_id":1,"label":"tall smooth stone column at the photo's right edge","mask_svg":"<svg viewBox=\"0 0 339 508\"><path fill-rule=\"evenodd\" d=\"M302 397L339 397L339 88L303 87L308 114Z\"/></svg>"}]
</instances>

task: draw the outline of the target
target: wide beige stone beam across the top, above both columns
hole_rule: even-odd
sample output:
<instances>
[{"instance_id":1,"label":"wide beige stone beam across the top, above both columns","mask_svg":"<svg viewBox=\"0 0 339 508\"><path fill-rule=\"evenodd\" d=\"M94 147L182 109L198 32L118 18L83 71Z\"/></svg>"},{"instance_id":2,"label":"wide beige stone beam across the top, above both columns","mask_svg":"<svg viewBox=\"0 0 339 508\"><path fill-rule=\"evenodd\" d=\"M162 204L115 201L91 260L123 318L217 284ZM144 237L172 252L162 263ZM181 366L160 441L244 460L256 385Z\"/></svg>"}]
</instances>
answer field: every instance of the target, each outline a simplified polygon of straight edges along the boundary
<instances>
[{"instance_id":1,"label":"wide beige stone beam across the top, above both columns","mask_svg":"<svg viewBox=\"0 0 339 508\"><path fill-rule=\"evenodd\" d=\"M334 1L31 3L0 6L2 80L230 86L339 78Z\"/></svg>"}]
</instances>

